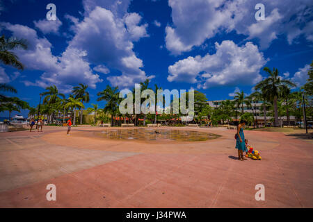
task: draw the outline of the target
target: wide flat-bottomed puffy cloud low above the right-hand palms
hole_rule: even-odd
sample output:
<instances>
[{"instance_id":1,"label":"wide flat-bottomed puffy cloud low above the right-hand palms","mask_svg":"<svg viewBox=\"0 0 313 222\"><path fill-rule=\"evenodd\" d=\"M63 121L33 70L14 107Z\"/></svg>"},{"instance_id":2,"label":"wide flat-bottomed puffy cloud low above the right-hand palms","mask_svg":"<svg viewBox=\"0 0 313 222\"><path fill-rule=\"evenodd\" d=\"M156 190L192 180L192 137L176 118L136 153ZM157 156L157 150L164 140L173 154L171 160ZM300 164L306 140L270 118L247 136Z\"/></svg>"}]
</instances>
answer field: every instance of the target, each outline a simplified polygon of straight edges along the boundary
<instances>
[{"instance_id":1,"label":"wide flat-bottomed puffy cloud low above the right-hand palms","mask_svg":"<svg viewBox=\"0 0 313 222\"><path fill-rule=\"evenodd\" d=\"M219 85L252 85L262 80L259 69L266 64L257 46L247 42L237 46L227 40L216 42L216 53L189 56L168 67L168 81L198 83L207 89Z\"/></svg>"}]
</instances>

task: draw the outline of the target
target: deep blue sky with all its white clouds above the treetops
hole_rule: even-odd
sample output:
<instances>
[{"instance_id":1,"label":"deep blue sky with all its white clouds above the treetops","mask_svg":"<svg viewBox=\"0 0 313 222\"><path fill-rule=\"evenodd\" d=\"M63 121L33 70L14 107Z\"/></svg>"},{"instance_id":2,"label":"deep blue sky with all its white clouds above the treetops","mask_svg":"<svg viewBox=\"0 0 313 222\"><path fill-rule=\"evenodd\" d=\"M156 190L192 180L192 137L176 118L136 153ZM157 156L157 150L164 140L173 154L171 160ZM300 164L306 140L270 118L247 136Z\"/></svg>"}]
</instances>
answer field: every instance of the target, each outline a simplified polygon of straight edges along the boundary
<instances>
[{"instance_id":1,"label":"deep blue sky with all its white clouds above the treetops","mask_svg":"<svg viewBox=\"0 0 313 222\"><path fill-rule=\"evenodd\" d=\"M48 3L57 21L46 19ZM264 21L255 19L257 3ZM108 84L132 88L145 78L153 87L232 99L250 94L266 66L300 86L313 58L312 10L306 0L0 0L1 35L30 44L15 51L26 69L0 64L0 82L32 106L49 85L68 95L87 84L91 104Z\"/></svg>"}]
</instances>

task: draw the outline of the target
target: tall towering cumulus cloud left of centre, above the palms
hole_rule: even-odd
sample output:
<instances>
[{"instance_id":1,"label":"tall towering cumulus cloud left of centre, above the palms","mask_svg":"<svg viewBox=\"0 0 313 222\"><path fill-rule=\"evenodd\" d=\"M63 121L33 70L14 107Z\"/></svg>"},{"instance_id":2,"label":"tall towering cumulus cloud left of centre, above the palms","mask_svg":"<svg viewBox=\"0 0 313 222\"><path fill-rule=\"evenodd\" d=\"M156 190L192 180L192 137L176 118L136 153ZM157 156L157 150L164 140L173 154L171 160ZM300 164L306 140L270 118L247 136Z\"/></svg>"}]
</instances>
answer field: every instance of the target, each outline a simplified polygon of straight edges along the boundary
<instances>
[{"instance_id":1,"label":"tall towering cumulus cloud left of centre, above the palms","mask_svg":"<svg viewBox=\"0 0 313 222\"><path fill-rule=\"evenodd\" d=\"M97 3L102 5L103 2ZM86 51L86 58L95 65L103 65L105 62L110 69L119 70L120 75L107 77L113 86L129 87L145 78L151 78L142 70L143 60L137 58L133 51L133 42L147 37L147 25L140 24L141 16L127 13L126 10L121 16L122 10L118 6L124 8L122 3L108 7L111 10L91 6L88 6L83 21L75 24L75 35L70 46Z\"/></svg>"}]
</instances>

